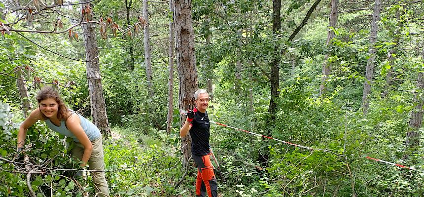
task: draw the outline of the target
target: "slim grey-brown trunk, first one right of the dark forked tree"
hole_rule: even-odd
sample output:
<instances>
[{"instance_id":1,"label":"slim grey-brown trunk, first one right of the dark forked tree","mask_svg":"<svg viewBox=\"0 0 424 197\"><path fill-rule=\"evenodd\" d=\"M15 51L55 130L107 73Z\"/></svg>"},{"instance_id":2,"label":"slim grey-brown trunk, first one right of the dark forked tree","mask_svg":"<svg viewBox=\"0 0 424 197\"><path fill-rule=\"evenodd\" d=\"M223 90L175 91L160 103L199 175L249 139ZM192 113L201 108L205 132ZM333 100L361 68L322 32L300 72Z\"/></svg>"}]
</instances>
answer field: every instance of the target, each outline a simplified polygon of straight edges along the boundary
<instances>
[{"instance_id":1,"label":"slim grey-brown trunk, first one right of the dark forked tree","mask_svg":"<svg viewBox=\"0 0 424 197\"><path fill-rule=\"evenodd\" d=\"M319 86L319 95L325 94L327 85L326 80L328 76L330 75L331 71L331 64L327 62L328 57L331 56L331 48L332 45L332 39L335 36L335 32L330 28L336 28L337 27L337 13L339 8L339 0L331 0L331 7L330 7L330 17L329 17L329 25L328 25L328 33L327 33L327 48L328 53L324 57L324 64L322 66L322 79L321 79L321 85Z\"/></svg>"}]
</instances>

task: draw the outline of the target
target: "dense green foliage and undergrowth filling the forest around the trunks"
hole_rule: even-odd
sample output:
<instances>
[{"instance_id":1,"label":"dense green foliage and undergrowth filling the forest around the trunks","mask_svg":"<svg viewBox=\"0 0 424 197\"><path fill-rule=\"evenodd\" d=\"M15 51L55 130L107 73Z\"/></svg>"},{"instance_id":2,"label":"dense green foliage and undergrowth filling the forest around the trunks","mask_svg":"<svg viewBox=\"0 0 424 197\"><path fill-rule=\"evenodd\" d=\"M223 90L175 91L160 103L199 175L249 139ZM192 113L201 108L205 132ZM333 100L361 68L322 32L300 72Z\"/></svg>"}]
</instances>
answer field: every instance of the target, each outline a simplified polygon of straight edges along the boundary
<instances>
[{"instance_id":1,"label":"dense green foliage and undergrowth filling the forest around the trunks","mask_svg":"<svg viewBox=\"0 0 424 197\"><path fill-rule=\"evenodd\" d=\"M326 47L329 0L322 1L295 39L287 41L312 3L309 0L283 1L282 29L275 35L270 25L272 1L192 1L199 86L206 88L208 79L212 79L214 86L210 103L213 107L209 109L211 119L342 155L302 149L212 124L211 145L226 176L226 181L218 186L219 194L226 197L423 196L423 140L413 149L405 145L408 122L417 105L414 93L418 92L423 98L420 88L416 87L424 62L423 4L383 2L376 69L374 80L370 82L370 109L364 116L362 88L369 58L368 21L372 9L340 13L338 27L332 29L336 37L332 46ZM373 5L371 1L341 1L339 10ZM8 8L7 4L0 6ZM405 12L401 12L397 20L396 12L404 6ZM74 5L75 9L77 7ZM169 135L164 130L168 98L168 25L172 15L168 7L167 3L149 3L154 97L149 97L147 91L142 34L129 37L119 33L114 38L108 32L107 39L101 39L100 34L97 37L106 110L113 132L111 138L104 140L106 179L113 196L194 196L196 169L193 166L182 185L174 189L183 174L177 93L174 95L174 130ZM60 9L71 17L79 17L75 9ZM141 2L134 1L128 19L130 25L138 21L141 9ZM124 29L130 26L125 1L96 0L93 10L95 18L110 17ZM9 13L6 17L13 21L15 15ZM56 17L53 15L49 20ZM64 23L73 21L62 20ZM24 22L14 28L51 29L47 25L27 27ZM76 27L73 31L80 35L79 41L70 41L66 34L22 33L65 57L41 49L14 32L1 36L1 158L14 160L19 157L16 155L17 127L24 118L13 79L12 71L16 67L24 68L28 80L35 77L45 82L58 80L67 105L85 117L91 116L85 64L72 60L85 60L82 30ZM210 42L206 41L208 37ZM398 44L394 44L395 38L399 38ZM133 54L130 54L131 47ZM388 55L393 47L397 52ZM331 51L328 62L332 65L328 91L319 95L322 65L328 51ZM392 64L388 56L395 57ZM270 85L266 74L270 72L274 57L280 59L280 96L276 118L271 119L268 113ZM242 66L237 67L237 62ZM26 70L25 65L33 70ZM393 82L384 97L382 92L388 72L393 73ZM174 77L174 92L178 92L176 72ZM38 83L27 81L26 84L30 100L36 106L34 96ZM70 140L53 133L42 122L29 129L27 139L25 153L35 163L48 168L77 168L78 161L68 154L72 147ZM366 159L366 156L419 170L408 171ZM0 196L28 196L26 174L14 172L22 166L0 160L0 167ZM87 192L94 192L90 178L81 180L72 170L46 170L31 178L37 197L49 196L51 191L55 196L82 196L80 183L88 183Z\"/></svg>"}]
</instances>

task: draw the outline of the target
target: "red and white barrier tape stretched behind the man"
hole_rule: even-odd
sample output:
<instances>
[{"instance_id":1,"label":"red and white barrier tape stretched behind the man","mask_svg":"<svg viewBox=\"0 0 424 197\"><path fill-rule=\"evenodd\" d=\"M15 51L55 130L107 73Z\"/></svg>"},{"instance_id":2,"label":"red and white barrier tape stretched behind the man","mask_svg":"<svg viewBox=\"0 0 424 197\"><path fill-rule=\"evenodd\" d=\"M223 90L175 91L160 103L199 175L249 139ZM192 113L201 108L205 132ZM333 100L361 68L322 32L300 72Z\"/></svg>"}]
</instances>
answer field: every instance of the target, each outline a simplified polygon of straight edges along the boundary
<instances>
[{"instance_id":1,"label":"red and white barrier tape stretched behind the man","mask_svg":"<svg viewBox=\"0 0 424 197\"><path fill-rule=\"evenodd\" d=\"M187 115L186 111L184 111L184 110L181 110L181 114L183 114L183 115ZM340 156L340 157L344 157L343 155L340 155L340 154L334 153L334 152L329 151L329 150L325 150L325 149L314 149L314 148L307 147L307 146L302 146L302 145L298 145L298 144L293 144L293 143L291 143L291 142L286 142L286 141L283 141L283 140L279 140L279 139L277 139L277 138L268 137L268 136L265 136L265 135L261 135L261 134L253 133L253 132L251 132L251 131L247 131L247 130L244 130L244 129L240 129L240 128L236 128L236 127L229 126L229 125L226 125L226 124L222 124L222 123L219 123L219 122L215 122L215 121L213 121L213 120L209 120L209 122L212 122L212 123L214 123L214 124L218 124L218 125L221 125L221 126L224 126L224 127L229 127L229 128L235 129L235 130L240 130L240 131L243 131L243 132L246 132L246 133L249 133L249 134L253 134L253 135L257 135L257 136L260 136L260 137L264 137L264 138L268 138L268 139L276 140L276 141L279 141L279 142L282 142L282 143L284 143L284 144L288 144L288 145L291 145L291 146L296 146L296 147L304 148L304 149L308 149L308 150L323 151L323 152L331 153L331 154L334 154L334 155L337 155L337 156ZM408 166L405 166L405 165L401 165L401 164L397 164L397 163L392 163L392 162L385 161L385 160L381 160L381 159L378 159L378 158L371 158L371 157L368 157L368 156L366 156L365 158L370 159L370 160L374 160L374 161L379 161L379 162L382 162L382 163L386 163L386 164L389 164L389 165L394 165L394 166L401 167L401 168L406 168L406 169L410 169L410 170L414 170L414 171L423 172L423 171L421 171L421 170L415 169L414 167L408 167Z\"/></svg>"}]
</instances>

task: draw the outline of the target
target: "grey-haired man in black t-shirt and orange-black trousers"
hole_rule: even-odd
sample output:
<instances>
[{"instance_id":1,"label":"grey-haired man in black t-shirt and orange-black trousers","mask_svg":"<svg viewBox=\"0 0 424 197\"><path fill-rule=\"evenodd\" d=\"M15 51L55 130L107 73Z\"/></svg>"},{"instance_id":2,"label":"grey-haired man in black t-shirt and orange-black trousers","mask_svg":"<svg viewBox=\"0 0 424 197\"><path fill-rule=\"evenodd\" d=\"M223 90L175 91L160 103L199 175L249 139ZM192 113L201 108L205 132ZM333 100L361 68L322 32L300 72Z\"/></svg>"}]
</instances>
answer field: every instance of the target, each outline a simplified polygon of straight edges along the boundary
<instances>
[{"instance_id":1,"label":"grey-haired man in black t-shirt and orange-black trousers","mask_svg":"<svg viewBox=\"0 0 424 197\"><path fill-rule=\"evenodd\" d=\"M190 131L191 153L197 165L196 197L205 197L208 192L209 197L217 197L217 183L213 174L211 153L209 151L209 128L208 117L209 94L204 89L199 89L194 93L196 108L189 110L184 125L179 131L179 135L184 137Z\"/></svg>"}]
</instances>

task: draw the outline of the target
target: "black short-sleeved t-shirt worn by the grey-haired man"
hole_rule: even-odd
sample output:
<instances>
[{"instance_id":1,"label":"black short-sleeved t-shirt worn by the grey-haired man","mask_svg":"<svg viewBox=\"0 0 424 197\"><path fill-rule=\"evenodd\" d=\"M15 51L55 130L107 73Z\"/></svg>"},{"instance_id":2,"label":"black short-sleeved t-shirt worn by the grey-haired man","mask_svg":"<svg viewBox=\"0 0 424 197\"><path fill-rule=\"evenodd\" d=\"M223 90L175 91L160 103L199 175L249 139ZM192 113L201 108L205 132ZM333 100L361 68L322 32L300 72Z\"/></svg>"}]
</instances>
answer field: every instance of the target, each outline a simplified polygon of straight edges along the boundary
<instances>
[{"instance_id":1,"label":"black short-sleeved t-shirt worn by the grey-haired man","mask_svg":"<svg viewBox=\"0 0 424 197\"><path fill-rule=\"evenodd\" d=\"M209 122L208 112L201 113L197 111L191 122L191 153L196 156L209 154Z\"/></svg>"}]
</instances>

